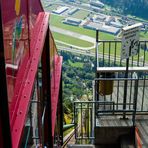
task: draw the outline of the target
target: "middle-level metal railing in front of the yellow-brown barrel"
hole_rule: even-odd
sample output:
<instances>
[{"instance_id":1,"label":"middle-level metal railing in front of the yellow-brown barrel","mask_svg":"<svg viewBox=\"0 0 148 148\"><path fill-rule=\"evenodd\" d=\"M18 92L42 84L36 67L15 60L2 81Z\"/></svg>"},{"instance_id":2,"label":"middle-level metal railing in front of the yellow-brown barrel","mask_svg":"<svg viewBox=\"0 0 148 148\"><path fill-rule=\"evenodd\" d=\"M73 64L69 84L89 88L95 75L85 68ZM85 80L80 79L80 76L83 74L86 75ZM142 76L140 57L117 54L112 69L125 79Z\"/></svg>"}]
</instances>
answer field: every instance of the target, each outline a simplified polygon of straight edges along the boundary
<instances>
[{"instance_id":1,"label":"middle-level metal railing in front of the yellow-brown barrel","mask_svg":"<svg viewBox=\"0 0 148 148\"><path fill-rule=\"evenodd\" d=\"M147 113L148 96L145 92L148 89L147 78L118 78L119 74L114 78L97 78L95 81L95 99L97 101L113 101L115 109L122 109L122 105L132 109L134 98L137 97L137 114ZM127 85L125 84L127 81ZM138 93L137 93L138 92ZM135 96L136 95L136 96ZM111 106L111 105L110 105ZM104 106L105 109L105 106Z\"/></svg>"}]
</instances>

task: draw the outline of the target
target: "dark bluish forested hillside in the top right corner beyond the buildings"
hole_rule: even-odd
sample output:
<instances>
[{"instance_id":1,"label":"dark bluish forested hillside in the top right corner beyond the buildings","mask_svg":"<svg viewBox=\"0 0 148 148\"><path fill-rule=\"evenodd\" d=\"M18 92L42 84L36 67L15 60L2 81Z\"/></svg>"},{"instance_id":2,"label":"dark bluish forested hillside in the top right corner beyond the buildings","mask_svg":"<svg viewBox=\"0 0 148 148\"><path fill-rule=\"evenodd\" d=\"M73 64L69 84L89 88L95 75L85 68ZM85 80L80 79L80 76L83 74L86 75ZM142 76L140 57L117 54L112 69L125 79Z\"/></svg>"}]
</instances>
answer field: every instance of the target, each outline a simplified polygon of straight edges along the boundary
<instances>
[{"instance_id":1,"label":"dark bluish forested hillside in the top right corner beyond the buildings","mask_svg":"<svg viewBox=\"0 0 148 148\"><path fill-rule=\"evenodd\" d=\"M131 14L144 19L148 19L148 0L100 0L108 4L122 14Z\"/></svg>"}]
</instances>

